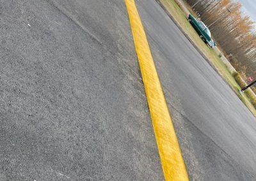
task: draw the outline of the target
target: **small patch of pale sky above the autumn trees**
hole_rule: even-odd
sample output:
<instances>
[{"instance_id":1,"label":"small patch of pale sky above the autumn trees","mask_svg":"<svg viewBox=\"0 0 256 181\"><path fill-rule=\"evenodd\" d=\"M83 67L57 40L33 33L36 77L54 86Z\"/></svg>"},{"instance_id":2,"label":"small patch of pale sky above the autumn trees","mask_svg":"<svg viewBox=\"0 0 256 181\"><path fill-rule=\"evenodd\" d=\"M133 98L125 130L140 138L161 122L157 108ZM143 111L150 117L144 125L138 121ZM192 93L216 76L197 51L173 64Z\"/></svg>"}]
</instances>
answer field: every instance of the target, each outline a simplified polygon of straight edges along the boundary
<instances>
[{"instance_id":1,"label":"small patch of pale sky above the autumn trees","mask_svg":"<svg viewBox=\"0 0 256 181\"><path fill-rule=\"evenodd\" d=\"M256 0L239 0L243 4L242 11L256 22Z\"/></svg>"}]
</instances>

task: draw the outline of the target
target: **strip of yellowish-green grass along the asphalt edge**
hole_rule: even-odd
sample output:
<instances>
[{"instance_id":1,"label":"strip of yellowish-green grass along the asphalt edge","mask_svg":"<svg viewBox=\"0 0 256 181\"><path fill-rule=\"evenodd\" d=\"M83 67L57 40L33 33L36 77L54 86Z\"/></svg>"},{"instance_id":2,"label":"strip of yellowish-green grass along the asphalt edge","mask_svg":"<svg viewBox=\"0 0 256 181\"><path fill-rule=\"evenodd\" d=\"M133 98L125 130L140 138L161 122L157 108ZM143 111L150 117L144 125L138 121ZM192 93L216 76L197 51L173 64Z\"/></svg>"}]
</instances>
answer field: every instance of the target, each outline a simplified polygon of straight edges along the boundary
<instances>
[{"instance_id":1,"label":"strip of yellowish-green grass along the asphalt edge","mask_svg":"<svg viewBox=\"0 0 256 181\"><path fill-rule=\"evenodd\" d=\"M221 76L225 78L225 80L229 83L230 87L236 92L237 96L243 103L249 108L249 110L255 115L256 117L256 110L255 107L252 105L252 101L246 94L241 93L241 87L236 82L232 73L230 73L227 69L227 66L221 61L218 54L215 52L214 49L207 46L204 41L201 40L200 36L196 33L195 29L191 26L188 22L187 16L179 7L179 5L174 0L160 0L161 3L164 5L166 10L169 11L170 15L175 19L177 24L183 29L183 31L189 36L189 38L195 43L195 45L202 51L202 53L207 57L207 59L211 62L211 64L218 70Z\"/></svg>"}]
</instances>

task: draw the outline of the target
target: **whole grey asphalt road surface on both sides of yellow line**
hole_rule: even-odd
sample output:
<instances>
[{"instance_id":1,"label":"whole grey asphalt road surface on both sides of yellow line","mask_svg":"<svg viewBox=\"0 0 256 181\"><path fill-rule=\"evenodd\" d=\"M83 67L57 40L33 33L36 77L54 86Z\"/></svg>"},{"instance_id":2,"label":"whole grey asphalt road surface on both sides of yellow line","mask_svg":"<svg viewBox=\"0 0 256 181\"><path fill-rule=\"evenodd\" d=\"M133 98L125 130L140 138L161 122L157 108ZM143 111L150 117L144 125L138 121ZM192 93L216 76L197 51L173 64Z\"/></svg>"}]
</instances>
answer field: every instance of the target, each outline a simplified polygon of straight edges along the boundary
<instances>
[{"instance_id":1,"label":"whole grey asphalt road surface on both sides of yellow line","mask_svg":"<svg viewBox=\"0 0 256 181\"><path fill-rule=\"evenodd\" d=\"M164 180L124 1L0 2L0 180ZM136 4L189 178L255 180L255 117Z\"/></svg>"}]
</instances>

